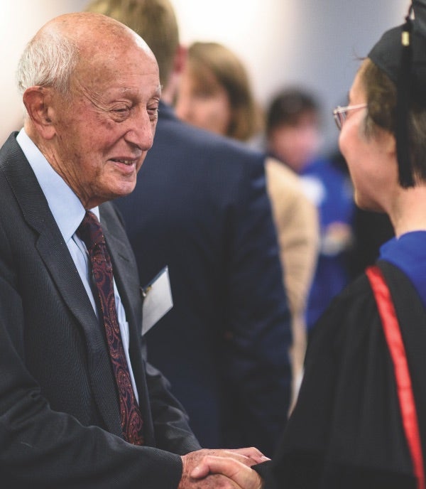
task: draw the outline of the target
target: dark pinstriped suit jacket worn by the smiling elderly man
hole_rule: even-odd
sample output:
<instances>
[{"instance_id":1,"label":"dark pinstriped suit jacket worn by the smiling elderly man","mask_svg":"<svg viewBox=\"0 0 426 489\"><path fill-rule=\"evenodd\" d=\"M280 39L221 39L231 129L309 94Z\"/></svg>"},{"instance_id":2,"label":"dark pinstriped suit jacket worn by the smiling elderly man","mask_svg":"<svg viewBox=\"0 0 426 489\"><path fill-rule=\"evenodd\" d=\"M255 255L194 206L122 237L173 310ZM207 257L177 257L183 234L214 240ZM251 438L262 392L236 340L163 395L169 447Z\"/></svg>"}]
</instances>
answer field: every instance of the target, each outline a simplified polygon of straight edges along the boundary
<instances>
[{"instance_id":1,"label":"dark pinstriped suit jacket worn by the smiling elderly man","mask_svg":"<svg viewBox=\"0 0 426 489\"><path fill-rule=\"evenodd\" d=\"M176 487L180 457L165 450L199 445L143 360L136 264L116 211L100 206L146 444L157 448L121 439L104 331L15 136L0 150L0 478L10 488Z\"/></svg>"}]
</instances>

